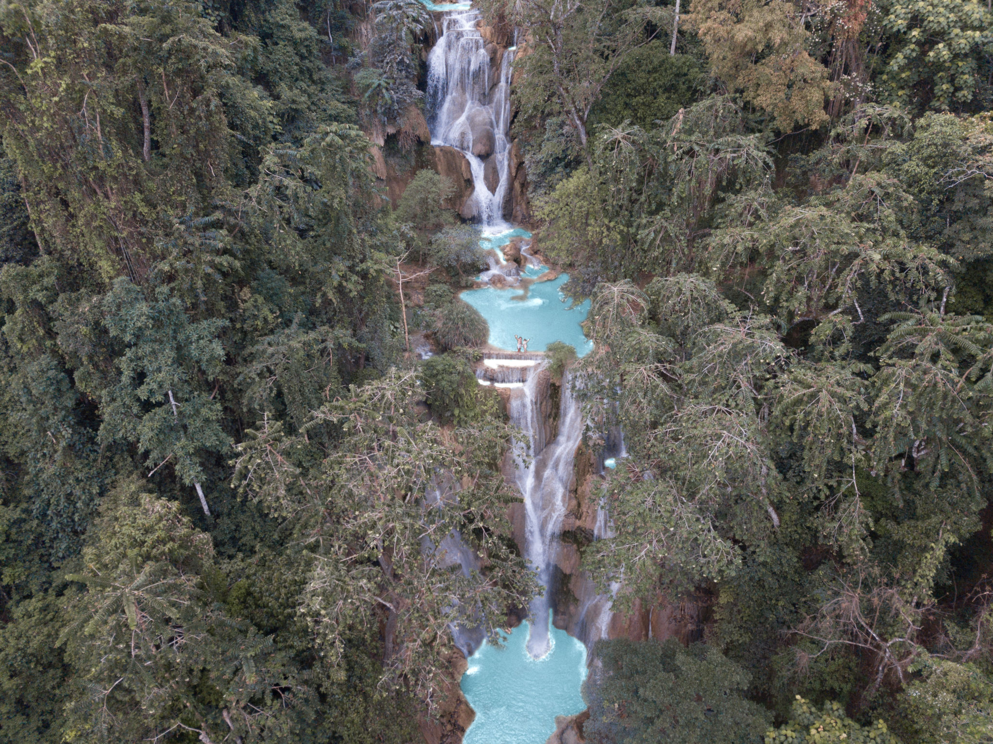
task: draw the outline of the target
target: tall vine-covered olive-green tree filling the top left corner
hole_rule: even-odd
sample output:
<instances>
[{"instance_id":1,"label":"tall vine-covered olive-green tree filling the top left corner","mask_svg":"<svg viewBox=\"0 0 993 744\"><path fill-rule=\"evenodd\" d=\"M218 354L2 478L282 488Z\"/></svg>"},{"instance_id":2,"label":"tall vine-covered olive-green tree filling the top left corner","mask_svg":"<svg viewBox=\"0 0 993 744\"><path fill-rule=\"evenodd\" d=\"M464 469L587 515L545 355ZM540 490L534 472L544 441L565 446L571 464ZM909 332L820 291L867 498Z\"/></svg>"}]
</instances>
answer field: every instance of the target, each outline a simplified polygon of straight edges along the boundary
<instances>
[{"instance_id":1,"label":"tall vine-covered olive-green tree filling the top left corner","mask_svg":"<svg viewBox=\"0 0 993 744\"><path fill-rule=\"evenodd\" d=\"M233 73L248 41L222 40L194 3L10 6L0 39L4 150L39 247L104 281L143 283L163 217L225 190L225 108L257 144L271 132L268 102Z\"/></svg>"}]
</instances>

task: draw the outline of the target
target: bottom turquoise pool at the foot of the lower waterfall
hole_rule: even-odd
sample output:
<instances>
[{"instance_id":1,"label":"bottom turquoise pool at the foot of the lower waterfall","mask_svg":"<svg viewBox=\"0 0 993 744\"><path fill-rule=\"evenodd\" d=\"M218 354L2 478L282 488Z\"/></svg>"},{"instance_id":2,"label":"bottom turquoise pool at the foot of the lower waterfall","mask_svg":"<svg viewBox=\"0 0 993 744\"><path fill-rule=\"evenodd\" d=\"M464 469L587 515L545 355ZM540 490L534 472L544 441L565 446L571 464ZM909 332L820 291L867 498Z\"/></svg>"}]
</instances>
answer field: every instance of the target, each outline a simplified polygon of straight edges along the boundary
<instances>
[{"instance_id":1,"label":"bottom turquoise pool at the foot of the lower waterfall","mask_svg":"<svg viewBox=\"0 0 993 744\"><path fill-rule=\"evenodd\" d=\"M476 711L465 744L545 744L556 715L586 709L580 687L586 679L586 647L564 630L551 628L552 650L528 655L524 622L497 648L483 644L469 658L462 692Z\"/></svg>"}]
</instances>

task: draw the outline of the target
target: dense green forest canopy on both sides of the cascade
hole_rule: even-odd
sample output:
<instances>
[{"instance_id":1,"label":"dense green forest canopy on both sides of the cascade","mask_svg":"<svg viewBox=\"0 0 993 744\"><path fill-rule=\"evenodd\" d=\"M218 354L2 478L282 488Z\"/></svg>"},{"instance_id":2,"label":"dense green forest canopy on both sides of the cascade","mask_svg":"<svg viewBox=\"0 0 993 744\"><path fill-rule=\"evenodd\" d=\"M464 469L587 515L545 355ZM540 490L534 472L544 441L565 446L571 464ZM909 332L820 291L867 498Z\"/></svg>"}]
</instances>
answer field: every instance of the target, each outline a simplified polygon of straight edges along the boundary
<instances>
[{"instance_id":1,"label":"dense green forest canopy on both sides of the cascade","mask_svg":"<svg viewBox=\"0 0 993 744\"><path fill-rule=\"evenodd\" d=\"M702 608L597 646L587 740L993 742L988 4L477 5L628 448L582 566ZM434 744L452 629L534 595L437 34L0 4L0 741Z\"/></svg>"}]
</instances>

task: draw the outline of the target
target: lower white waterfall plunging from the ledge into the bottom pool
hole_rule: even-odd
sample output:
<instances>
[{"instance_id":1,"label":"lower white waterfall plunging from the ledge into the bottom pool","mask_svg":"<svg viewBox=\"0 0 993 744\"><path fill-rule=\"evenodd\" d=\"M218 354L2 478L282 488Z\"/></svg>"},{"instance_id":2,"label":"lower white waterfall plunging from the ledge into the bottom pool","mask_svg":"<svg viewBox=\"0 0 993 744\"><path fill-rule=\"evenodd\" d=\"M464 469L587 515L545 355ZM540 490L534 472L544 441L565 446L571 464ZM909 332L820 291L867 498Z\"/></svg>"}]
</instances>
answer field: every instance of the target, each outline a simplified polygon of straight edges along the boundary
<instances>
[{"instance_id":1,"label":"lower white waterfall plunging from the ledge into the bottom pool","mask_svg":"<svg viewBox=\"0 0 993 744\"><path fill-rule=\"evenodd\" d=\"M545 444L544 422L537 393L539 374L528 376L523 387L510 398L510 422L527 434L527 442L515 443L517 487L524 497L524 552L542 584L542 592L530 604L531 635L527 652L535 659L548 653L548 621L551 568L558 550L558 537L568 502L576 448L583 434L583 416L568 375L562 380L559 429Z\"/></svg>"}]
</instances>

